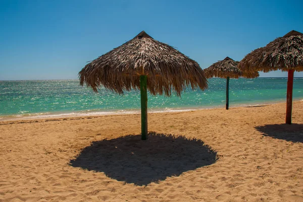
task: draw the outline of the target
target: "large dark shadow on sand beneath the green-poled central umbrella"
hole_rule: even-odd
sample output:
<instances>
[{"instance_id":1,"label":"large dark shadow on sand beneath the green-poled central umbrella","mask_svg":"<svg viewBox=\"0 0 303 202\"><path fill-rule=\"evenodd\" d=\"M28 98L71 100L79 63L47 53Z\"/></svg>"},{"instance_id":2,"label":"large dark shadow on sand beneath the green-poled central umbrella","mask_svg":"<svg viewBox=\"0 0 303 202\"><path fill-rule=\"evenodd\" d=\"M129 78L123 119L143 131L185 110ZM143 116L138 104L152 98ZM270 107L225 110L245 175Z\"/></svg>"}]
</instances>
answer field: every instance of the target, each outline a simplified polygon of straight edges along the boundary
<instances>
[{"instance_id":1,"label":"large dark shadow on sand beneath the green-poled central umbrella","mask_svg":"<svg viewBox=\"0 0 303 202\"><path fill-rule=\"evenodd\" d=\"M215 163L217 152L203 141L150 132L92 142L70 165L142 186Z\"/></svg>"}]
</instances>

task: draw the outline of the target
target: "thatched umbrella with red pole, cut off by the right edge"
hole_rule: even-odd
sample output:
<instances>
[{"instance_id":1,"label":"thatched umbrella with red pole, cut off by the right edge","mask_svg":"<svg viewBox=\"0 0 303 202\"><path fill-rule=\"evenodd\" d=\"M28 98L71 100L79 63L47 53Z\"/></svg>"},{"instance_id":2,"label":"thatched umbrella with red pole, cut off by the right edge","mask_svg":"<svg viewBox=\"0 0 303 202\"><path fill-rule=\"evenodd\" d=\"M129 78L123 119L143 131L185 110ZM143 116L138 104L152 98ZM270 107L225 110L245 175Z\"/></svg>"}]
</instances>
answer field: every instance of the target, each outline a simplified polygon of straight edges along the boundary
<instances>
[{"instance_id":1,"label":"thatched umbrella with red pole, cut off by the right edge","mask_svg":"<svg viewBox=\"0 0 303 202\"><path fill-rule=\"evenodd\" d=\"M303 34L292 30L265 47L251 51L238 66L243 72L288 71L285 122L291 124L293 73L303 71Z\"/></svg>"}]
</instances>

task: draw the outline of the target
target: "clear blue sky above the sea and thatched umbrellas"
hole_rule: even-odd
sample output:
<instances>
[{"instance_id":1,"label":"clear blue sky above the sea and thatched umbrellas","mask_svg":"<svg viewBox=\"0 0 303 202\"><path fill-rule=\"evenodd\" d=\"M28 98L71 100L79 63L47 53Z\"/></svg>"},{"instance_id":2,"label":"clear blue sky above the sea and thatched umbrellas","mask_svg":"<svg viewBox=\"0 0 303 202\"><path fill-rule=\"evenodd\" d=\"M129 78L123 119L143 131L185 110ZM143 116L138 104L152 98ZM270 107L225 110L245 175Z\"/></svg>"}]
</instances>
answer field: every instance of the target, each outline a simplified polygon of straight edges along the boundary
<instances>
[{"instance_id":1,"label":"clear blue sky above the sea and thatched umbrellas","mask_svg":"<svg viewBox=\"0 0 303 202\"><path fill-rule=\"evenodd\" d=\"M303 32L302 8L303 1L278 0L0 0L0 80L77 79L86 61L142 30L205 69L226 56L241 60L291 30Z\"/></svg>"}]
</instances>

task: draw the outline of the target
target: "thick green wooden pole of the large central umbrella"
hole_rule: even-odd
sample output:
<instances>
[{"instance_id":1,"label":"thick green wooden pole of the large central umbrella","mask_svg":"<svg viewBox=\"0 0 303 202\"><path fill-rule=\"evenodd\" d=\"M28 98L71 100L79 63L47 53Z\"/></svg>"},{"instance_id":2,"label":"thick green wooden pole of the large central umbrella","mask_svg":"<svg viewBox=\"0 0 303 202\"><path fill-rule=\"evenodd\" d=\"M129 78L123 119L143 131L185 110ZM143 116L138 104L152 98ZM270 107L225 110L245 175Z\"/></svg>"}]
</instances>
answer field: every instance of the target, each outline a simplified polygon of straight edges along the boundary
<instances>
[{"instance_id":1,"label":"thick green wooden pole of the large central umbrella","mask_svg":"<svg viewBox=\"0 0 303 202\"><path fill-rule=\"evenodd\" d=\"M147 76L140 76L141 91L141 140L147 139Z\"/></svg>"}]
</instances>

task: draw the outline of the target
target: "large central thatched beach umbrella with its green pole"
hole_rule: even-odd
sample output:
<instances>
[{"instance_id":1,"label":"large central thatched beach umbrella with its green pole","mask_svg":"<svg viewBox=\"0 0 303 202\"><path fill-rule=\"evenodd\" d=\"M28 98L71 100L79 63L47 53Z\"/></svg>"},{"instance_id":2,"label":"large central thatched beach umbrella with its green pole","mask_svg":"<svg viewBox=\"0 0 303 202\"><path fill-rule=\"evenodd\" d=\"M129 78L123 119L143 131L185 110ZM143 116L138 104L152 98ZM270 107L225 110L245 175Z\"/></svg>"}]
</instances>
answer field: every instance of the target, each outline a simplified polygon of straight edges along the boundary
<instances>
[{"instance_id":1,"label":"large central thatched beach umbrella with its green pole","mask_svg":"<svg viewBox=\"0 0 303 202\"><path fill-rule=\"evenodd\" d=\"M79 72L80 84L94 92L99 86L123 94L141 91L141 138L147 138L147 90L151 95L181 96L187 86L208 87L199 64L174 49L151 38L144 31L135 38L92 60Z\"/></svg>"}]
</instances>

